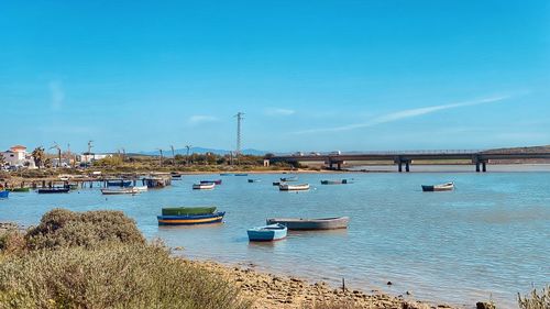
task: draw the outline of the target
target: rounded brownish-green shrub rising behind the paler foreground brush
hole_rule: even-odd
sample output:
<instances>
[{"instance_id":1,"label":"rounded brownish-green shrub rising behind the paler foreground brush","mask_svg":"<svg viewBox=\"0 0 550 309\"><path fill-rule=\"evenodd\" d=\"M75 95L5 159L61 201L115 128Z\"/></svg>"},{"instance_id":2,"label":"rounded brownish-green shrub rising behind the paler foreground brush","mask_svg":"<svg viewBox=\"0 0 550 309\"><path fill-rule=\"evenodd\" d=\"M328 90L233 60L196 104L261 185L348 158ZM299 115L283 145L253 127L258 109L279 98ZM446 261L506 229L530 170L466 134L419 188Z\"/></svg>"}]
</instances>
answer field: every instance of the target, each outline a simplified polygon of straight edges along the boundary
<instances>
[{"instance_id":1,"label":"rounded brownish-green shrub rising behind the paler foreground brush","mask_svg":"<svg viewBox=\"0 0 550 309\"><path fill-rule=\"evenodd\" d=\"M54 209L42 217L40 224L25 235L29 249L66 246L95 247L103 242L144 244L135 222L122 211L73 212Z\"/></svg>"}]
</instances>

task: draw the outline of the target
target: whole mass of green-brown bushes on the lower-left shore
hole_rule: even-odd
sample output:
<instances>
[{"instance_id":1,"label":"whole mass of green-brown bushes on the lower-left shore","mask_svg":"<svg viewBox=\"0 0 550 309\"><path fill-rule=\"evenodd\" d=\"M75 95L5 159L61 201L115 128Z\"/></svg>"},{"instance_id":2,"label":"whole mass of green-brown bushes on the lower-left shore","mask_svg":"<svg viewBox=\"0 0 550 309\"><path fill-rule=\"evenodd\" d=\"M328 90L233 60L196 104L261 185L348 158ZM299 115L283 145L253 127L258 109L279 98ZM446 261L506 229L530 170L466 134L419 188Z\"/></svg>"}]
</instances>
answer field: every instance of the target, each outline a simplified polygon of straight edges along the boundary
<instances>
[{"instance_id":1,"label":"whole mass of green-brown bushes on the lower-left shore","mask_svg":"<svg viewBox=\"0 0 550 309\"><path fill-rule=\"evenodd\" d=\"M246 309L239 289L147 244L120 211L55 209L0 234L0 308Z\"/></svg>"}]
</instances>

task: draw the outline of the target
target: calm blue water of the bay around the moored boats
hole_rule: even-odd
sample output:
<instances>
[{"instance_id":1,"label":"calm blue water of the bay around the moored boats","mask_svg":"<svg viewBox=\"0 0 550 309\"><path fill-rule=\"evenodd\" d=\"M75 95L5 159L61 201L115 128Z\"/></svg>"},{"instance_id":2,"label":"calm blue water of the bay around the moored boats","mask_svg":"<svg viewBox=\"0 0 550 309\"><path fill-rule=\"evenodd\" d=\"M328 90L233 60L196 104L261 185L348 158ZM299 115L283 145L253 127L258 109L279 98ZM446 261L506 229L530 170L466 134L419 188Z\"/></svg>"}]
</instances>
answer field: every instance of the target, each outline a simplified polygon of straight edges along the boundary
<instances>
[{"instance_id":1,"label":"calm blue water of the bay around the moored boats","mask_svg":"<svg viewBox=\"0 0 550 309\"><path fill-rule=\"evenodd\" d=\"M549 173L410 173L300 175L307 192L279 192L282 175L215 176L223 185L194 191L212 176L185 176L140 196L101 196L99 189L68 195L12 194L0 200L0 221L34 224L45 211L123 210L150 239L184 246L193 258L253 263L260 268L346 284L365 291L413 293L416 299L471 307L492 297L515 308L518 291L550 283ZM251 176L252 177L252 176ZM321 179L355 184L321 186ZM422 192L421 184L454 180L452 192ZM160 228L166 206L213 205L226 223ZM273 244L249 244L246 229L268 217L351 217L348 231L289 233ZM387 287L386 283L394 283Z\"/></svg>"}]
</instances>

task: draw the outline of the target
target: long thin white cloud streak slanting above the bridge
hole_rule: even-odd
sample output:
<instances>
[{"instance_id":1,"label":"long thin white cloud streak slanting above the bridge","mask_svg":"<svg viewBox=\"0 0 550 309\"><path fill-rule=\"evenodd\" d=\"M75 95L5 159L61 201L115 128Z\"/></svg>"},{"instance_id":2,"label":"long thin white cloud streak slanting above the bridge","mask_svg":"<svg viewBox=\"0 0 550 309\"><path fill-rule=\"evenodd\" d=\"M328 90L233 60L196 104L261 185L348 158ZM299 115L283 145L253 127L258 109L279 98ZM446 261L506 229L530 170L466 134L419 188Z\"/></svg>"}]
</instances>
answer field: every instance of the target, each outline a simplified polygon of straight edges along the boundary
<instances>
[{"instance_id":1,"label":"long thin white cloud streak slanting above the bridge","mask_svg":"<svg viewBox=\"0 0 550 309\"><path fill-rule=\"evenodd\" d=\"M374 126L377 124L383 124L383 123L395 122L395 121L399 121L399 120L404 120L404 119L420 117L420 115L425 115L425 114L429 114L429 113L433 113L433 112L438 112L438 111L442 111L442 110L480 106L480 104L486 104L486 103L496 103L496 102L501 102L501 101L508 99L508 98L510 98L510 96L498 96L498 97L491 97L491 98L484 98L484 99L477 99L477 100L471 100L471 101L464 101L464 102L458 102L458 103L441 104L441 106L426 107L426 108L418 108L418 109L408 109L408 110L397 111L397 112L384 114L384 115L381 115L377 118L373 118L373 119L371 119L366 122L363 122L363 123L354 123L354 124L333 126L333 128L311 129L311 130L296 132L296 134L319 133L319 132L339 132L339 131L350 131L350 130L355 130L355 129L370 128L370 126Z\"/></svg>"}]
</instances>

